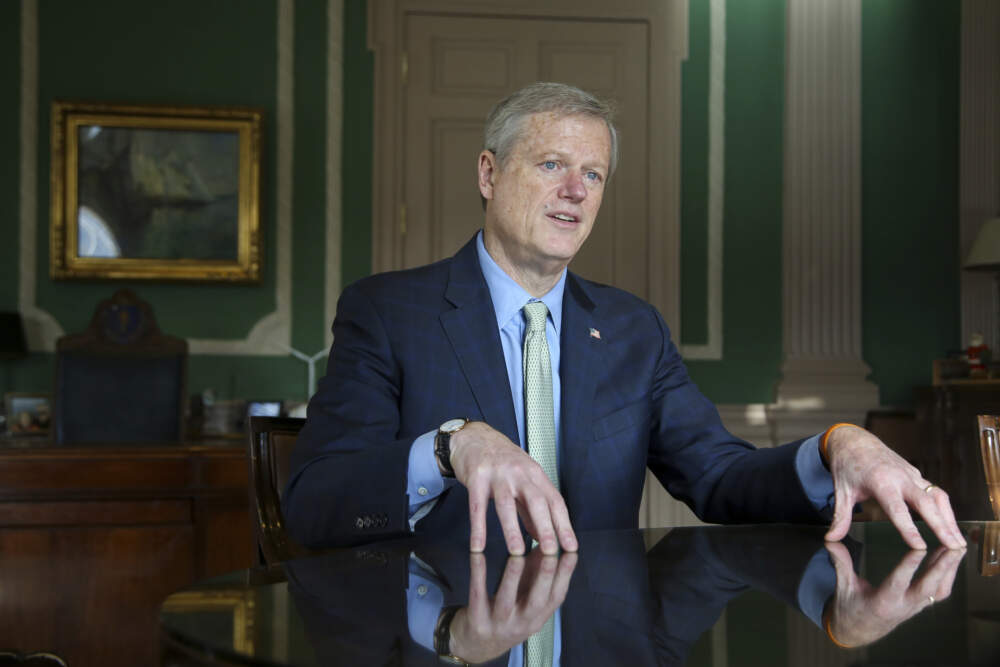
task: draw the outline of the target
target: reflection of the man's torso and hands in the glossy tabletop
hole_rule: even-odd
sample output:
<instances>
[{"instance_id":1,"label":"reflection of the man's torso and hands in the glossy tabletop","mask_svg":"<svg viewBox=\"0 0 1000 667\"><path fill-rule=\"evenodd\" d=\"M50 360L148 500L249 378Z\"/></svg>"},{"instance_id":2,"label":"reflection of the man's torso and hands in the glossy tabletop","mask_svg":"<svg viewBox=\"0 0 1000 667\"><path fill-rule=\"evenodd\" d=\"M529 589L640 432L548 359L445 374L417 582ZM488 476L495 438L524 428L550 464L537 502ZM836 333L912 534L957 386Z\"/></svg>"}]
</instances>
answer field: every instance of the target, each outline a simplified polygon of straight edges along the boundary
<instances>
[{"instance_id":1,"label":"reflection of the man's torso and hands in the glossy tabletop","mask_svg":"<svg viewBox=\"0 0 1000 667\"><path fill-rule=\"evenodd\" d=\"M824 532L779 525L581 533L579 551L561 557L469 554L464 540L407 540L292 561L286 572L323 665L438 665L435 621L449 607L459 608L449 650L470 663L508 665L510 649L558 609L561 667L684 665L727 605L754 590L808 617L817 642L827 641L826 610L837 643L869 643L926 609L930 596L947 598L963 556L903 554L873 586L856 574L862 544L828 544Z\"/></svg>"}]
</instances>

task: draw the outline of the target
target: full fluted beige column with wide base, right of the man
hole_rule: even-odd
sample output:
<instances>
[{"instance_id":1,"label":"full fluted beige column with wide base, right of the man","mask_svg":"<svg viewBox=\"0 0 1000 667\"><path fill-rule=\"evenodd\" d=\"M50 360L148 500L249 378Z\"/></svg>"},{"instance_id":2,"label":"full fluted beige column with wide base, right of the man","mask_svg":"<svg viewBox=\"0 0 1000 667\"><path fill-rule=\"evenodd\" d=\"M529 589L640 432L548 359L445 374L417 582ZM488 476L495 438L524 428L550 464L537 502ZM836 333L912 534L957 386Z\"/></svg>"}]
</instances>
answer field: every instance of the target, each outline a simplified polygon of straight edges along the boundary
<instances>
[{"instance_id":1,"label":"full fluted beige column with wide base, right of the man","mask_svg":"<svg viewBox=\"0 0 1000 667\"><path fill-rule=\"evenodd\" d=\"M861 2L788 0L779 442L863 423Z\"/></svg>"}]
</instances>

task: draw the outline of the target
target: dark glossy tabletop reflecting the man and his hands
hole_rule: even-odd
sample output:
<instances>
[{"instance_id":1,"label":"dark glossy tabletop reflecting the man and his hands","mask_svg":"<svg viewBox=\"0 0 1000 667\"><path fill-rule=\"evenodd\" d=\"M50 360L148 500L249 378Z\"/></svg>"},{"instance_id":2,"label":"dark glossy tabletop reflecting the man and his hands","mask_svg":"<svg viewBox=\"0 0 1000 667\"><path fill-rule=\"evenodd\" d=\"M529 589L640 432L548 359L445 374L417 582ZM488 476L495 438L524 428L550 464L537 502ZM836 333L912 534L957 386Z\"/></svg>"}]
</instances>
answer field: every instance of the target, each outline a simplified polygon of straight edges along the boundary
<instances>
[{"instance_id":1,"label":"dark glossy tabletop reflecting the man and his hands","mask_svg":"<svg viewBox=\"0 0 1000 667\"><path fill-rule=\"evenodd\" d=\"M440 665L425 645L455 606L452 648L498 665L556 607L562 665L1000 665L1000 523L962 529L951 552L880 522L830 546L775 525L585 533L558 558L337 550L171 595L164 664Z\"/></svg>"}]
</instances>

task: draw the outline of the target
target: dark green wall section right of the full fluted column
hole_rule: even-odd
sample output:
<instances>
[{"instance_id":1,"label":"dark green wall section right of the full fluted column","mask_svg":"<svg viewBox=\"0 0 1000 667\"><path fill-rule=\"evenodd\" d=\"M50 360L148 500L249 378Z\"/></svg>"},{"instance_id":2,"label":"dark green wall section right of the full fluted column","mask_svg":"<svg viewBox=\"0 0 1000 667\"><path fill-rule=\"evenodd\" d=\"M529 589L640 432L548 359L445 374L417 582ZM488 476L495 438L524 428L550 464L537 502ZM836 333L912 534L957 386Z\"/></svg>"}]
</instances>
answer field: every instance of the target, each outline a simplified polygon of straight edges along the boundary
<instances>
[{"instance_id":1,"label":"dark green wall section right of the full fluted column","mask_svg":"<svg viewBox=\"0 0 1000 667\"><path fill-rule=\"evenodd\" d=\"M862 5L863 345L886 405L961 344L960 7Z\"/></svg>"}]
</instances>

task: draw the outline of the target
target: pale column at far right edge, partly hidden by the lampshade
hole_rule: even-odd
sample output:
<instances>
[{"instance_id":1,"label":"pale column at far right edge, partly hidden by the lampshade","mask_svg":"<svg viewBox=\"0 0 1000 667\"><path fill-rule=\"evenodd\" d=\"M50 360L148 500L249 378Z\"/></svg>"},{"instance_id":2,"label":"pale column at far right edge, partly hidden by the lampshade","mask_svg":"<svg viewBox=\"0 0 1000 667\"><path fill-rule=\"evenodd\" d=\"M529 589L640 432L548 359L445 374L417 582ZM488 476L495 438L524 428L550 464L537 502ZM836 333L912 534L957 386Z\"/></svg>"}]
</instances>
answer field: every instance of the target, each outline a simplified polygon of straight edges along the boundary
<instances>
[{"instance_id":1,"label":"pale column at far right edge, partly hidden by the lampshade","mask_svg":"<svg viewBox=\"0 0 1000 667\"><path fill-rule=\"evenodd\" d=\"M1000 3L962 2L959 263L982 223L1000 213ZM962 344L974 332L1000 350L995 282L989 273L962 272Z\"/></svg>"}]
</instances>

